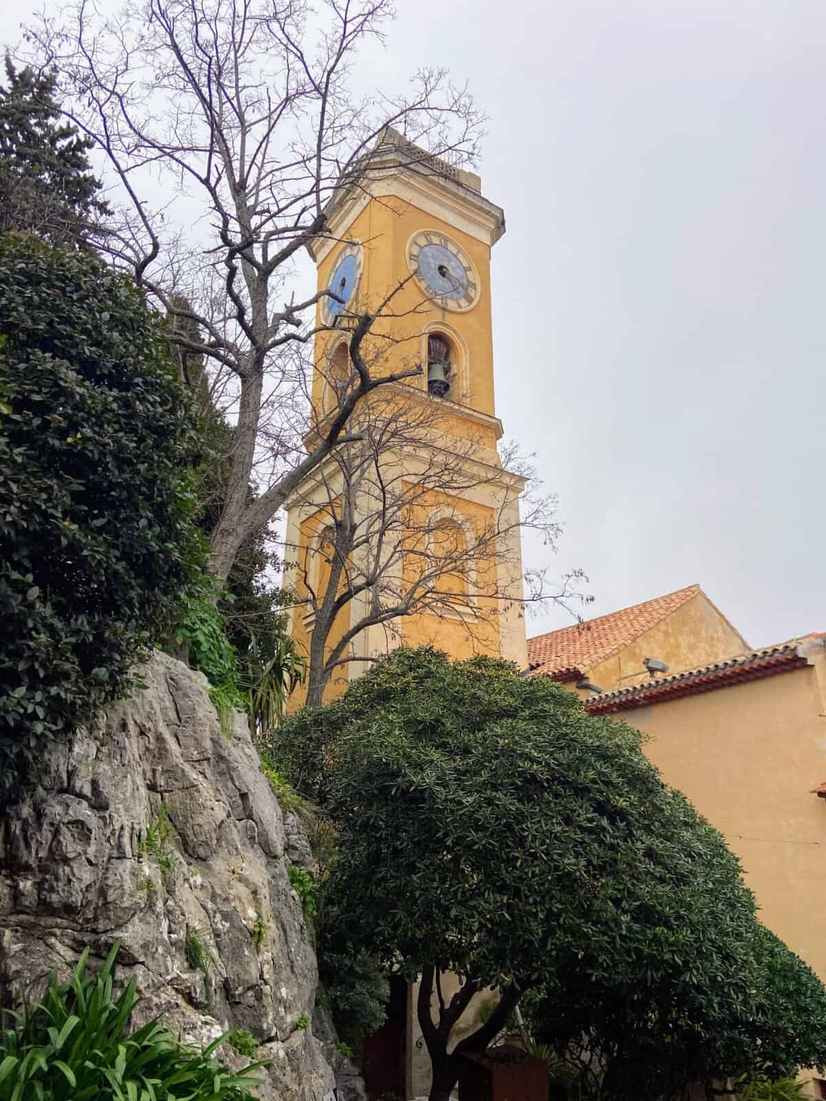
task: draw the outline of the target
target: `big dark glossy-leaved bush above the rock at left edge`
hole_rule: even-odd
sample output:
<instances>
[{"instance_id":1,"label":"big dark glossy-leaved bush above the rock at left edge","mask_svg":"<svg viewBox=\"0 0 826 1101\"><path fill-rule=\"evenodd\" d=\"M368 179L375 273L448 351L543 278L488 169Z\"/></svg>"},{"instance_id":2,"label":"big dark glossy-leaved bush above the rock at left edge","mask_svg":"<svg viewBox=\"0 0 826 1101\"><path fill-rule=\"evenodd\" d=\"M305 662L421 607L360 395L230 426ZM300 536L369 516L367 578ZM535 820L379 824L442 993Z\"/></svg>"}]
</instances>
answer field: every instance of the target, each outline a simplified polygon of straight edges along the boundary
<instances>
[{"instance_id":1,"label":"big dark glossy-leaved bush above the rock at left edge","mask_svg":"<svg viewBox=\"0 0 826 1101\"><path fill-rule=\"evenodd\" d=\"M0 239L0 773L128 693L200 550L157 319L91 255ZM11 759L11 760L10 760Z\"/></svg>"}]
</instances>

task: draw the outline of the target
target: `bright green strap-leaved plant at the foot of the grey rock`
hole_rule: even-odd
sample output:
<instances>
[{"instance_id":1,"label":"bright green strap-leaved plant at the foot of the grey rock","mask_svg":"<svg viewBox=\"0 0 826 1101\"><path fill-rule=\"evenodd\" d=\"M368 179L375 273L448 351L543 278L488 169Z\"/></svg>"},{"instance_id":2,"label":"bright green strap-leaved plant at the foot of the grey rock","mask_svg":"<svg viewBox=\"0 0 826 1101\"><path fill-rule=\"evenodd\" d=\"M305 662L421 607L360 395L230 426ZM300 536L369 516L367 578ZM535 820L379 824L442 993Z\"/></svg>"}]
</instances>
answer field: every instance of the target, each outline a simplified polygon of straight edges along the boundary
<instances>
[{"instance_id":1,"label":"bright green strap-leaved plant at the foot of the grey rock","mask_svg":"<svg viewBox=\"0 0 826 1101\"><path fill-rule=\"evenodd\" d=\"M213 1053L181 1044L150 1021L137 1032L129 1021L140 1001L132 978L112 999L116 944L97 975L86 949L67 983L55 977L43 1003L22 1014L0 1014L0 1101L246 1101L259 1079L251 1064L221 1067Z\"/></svg>"}]
</instances>

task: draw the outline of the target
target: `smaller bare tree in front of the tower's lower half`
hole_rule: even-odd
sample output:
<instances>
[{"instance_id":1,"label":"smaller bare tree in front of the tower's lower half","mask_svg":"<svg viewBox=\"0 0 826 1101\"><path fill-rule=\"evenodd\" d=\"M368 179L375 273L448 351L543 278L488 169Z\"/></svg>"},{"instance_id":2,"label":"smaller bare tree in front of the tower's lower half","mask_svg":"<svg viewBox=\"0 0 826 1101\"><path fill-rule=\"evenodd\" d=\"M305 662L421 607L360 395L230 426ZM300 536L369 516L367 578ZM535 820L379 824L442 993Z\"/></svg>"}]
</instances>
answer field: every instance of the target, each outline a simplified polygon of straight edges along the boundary
<instances>
[{"instance_id":1,"label":"smaller bare tree in front of the tower's lower half","mask_svg":"<svg viewBox=\"0 0 826 1101\"><path fill-rule=\"evenodd\" d=\"M325 374L346 392L335 364ZM530 530L553 546L555 498L539 491L514 447L498 456L489 442L446 435L446 408L414 385L373 395L352 415L350 440L289 502L285 580L293 635L308 650L309 706L336 671L398 643L405 619L433 624L419 642L438 643L452 624L490 652L525 604L579 596L579 571L555 587L534 574L523 596L520 539Z\"/></svg>"}]
</instances>

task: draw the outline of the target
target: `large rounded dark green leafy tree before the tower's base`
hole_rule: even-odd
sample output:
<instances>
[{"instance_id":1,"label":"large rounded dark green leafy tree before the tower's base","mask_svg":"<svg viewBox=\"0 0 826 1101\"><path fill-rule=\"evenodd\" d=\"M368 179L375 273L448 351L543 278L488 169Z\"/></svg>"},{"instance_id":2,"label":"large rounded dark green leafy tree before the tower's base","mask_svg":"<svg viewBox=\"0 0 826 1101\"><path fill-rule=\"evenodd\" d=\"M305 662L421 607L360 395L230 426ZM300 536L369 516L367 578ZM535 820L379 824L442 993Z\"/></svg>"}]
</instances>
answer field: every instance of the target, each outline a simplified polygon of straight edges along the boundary
<instances>
[{"instance_id":1,"label":"large rounded dark green leafy tree before the tower's base","mask_svg":"<svg viewBox=\"0 0 826 1101\"><path fill-rule=\"evenodd\" d=\"M548 678L424 648L287 720L271 752L340 831L322 900L337 942L502 991L457 1051L528 990L537 1038L599 1050L609 1097L819 1064L824 988L640 740ZM423 1029L447 1097L452 1057Z\"/></svg>"}]
</instances>

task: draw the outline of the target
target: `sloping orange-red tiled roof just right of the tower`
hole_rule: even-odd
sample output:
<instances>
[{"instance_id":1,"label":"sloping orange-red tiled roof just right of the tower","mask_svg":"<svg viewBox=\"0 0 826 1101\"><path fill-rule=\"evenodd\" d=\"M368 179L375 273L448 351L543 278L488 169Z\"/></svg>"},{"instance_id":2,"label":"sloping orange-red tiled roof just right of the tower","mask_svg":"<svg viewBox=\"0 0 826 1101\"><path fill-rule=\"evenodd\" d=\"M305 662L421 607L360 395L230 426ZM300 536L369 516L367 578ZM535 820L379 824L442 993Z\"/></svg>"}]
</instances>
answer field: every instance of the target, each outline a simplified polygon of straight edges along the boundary
<instances>
[{"instance_id":1,"label":"sloping orange-red tiled roof just right of the tower","mask_svg":"<svg viewBox=\"0 0 826 1101\"><path fill-rule=\"evenodd\" d=\"M607 657L623 650L666 615L700 591L689 585L664 597L598 615L528 640L531 673L547 673L556 680L578 680Z\"/></svg>"}]
</instances>

